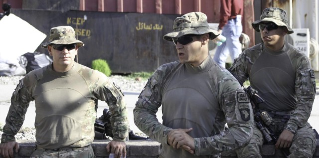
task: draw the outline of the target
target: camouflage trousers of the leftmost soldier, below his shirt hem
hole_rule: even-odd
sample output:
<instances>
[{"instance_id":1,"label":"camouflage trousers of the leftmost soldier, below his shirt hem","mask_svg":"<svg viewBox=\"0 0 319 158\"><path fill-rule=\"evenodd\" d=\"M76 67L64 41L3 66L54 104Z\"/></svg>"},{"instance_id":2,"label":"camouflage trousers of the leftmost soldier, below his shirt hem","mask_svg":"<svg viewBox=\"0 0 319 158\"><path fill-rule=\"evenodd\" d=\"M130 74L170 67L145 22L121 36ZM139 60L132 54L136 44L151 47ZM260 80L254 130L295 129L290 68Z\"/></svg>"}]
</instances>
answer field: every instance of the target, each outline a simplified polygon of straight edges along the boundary
<instances>
[{"instance_id":1,"label":"camouflage trousers of the leftmost soldier, below his shirt hem","mask_svg":"<svg viewBox=\"0 0 319 158\"><path fill-rule=\"evenodd\" d=\"M87 146L64 150L36 149L30 158L95 158L95 156L92 147Z\"/></svg>"}]
</instances>

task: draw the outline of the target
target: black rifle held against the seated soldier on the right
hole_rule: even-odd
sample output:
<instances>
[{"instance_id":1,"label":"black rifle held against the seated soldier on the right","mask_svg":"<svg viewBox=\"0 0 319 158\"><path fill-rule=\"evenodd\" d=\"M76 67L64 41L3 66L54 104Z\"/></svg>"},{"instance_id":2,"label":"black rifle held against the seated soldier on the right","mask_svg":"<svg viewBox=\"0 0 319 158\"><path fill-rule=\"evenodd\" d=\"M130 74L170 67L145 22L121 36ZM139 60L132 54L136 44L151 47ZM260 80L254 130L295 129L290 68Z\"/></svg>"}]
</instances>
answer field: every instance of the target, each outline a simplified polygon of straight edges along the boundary
<instances>
[{"instance_id":1,"label":"black rifle held against the seated soldier on the right","mask_svg":"<svg viewBox=\"0 0 319 158\"><path fill-rule=\"evenodd\" d=\"M250 103L253 107L254 120L258 129L263 133L267 143L276 143L278 136L275 135L275 123L267 112L260 113L259 104L265 102L257 93L258 91L248 86L245 88L242 86L244 91L248 94ZM281 150L285 157L288 157L289 152Z\"/></svg>"}]
</instances>

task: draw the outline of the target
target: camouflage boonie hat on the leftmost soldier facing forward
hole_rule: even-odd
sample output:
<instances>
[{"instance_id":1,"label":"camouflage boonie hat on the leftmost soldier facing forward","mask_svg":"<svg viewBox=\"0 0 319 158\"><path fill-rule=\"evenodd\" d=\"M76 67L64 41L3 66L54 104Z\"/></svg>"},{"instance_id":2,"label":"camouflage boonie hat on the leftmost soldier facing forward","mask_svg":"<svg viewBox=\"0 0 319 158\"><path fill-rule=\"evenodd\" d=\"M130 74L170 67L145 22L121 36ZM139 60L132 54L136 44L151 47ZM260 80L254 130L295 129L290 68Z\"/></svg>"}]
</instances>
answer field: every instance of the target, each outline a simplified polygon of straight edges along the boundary
<instances>
[{"instance_id":1,"label":"camouflage boonie hat on the leftmost soldier facing forward","mask_svg":"<svg viewBox=\"0 0 319 158\"><path fill-rule=\"evenodd\" d=\"M84 46L83 42L75 39L75 31L71 26L57 26L50 30L49 42L41 44L42 48L47 48L50 44L72 44L77 43L78 47Z\"/></svg>"}]
</instances>

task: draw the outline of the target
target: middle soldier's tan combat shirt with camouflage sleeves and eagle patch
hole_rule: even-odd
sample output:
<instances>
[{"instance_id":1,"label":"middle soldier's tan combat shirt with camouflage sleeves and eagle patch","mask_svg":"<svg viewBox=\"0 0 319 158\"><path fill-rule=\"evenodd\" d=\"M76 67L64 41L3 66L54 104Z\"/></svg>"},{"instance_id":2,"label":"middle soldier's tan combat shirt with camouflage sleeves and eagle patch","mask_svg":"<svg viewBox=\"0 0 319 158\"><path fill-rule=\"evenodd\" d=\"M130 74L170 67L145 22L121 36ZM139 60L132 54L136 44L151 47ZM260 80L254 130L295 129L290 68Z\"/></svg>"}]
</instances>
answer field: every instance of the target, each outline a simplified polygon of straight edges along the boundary
<instances>
[{"instance_id":1,"label":"middle soldier's tan combat shirt with camouflage sleeves and eagle patch","mask_svg":"<svg viewBox=\"0 0 319 158\"><path fill-rule=\"evenodd\" d=\"M160 106L162 123L156 118ZM134 121L161 143L162 158L216 158L249 142L253 114L237 80L208 56L198 67L179 61L160 66L139 96ZM194 155L167 145L167 134L178 128L193 128L188 134L195 141Z\"/></svg>"}]
</instances>

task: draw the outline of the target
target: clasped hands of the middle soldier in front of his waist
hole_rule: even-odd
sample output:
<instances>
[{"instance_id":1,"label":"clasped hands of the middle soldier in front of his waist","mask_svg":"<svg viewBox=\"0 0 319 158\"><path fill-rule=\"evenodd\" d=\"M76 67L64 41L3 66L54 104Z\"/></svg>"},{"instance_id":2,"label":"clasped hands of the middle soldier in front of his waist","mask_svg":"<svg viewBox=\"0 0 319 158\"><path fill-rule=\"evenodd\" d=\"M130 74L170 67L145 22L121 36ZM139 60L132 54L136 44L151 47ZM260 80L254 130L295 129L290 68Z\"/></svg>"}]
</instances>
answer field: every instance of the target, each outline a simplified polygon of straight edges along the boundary
<instances>
[{"instance_id":1,"label":"clasped hands of the middle soldier in front of his waist","mask_svg":"<svg viewBox=\"0 0 319 158\"><path fill-rule=\"evenodd\" d=\"M182 148L187 152L194 154L195 143L194 138L190 137L187 133L192 131L189 129L174 129L171 130L167 135L167 143L173 148Z\"/></svg>"}]
</instances>

